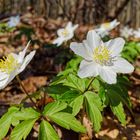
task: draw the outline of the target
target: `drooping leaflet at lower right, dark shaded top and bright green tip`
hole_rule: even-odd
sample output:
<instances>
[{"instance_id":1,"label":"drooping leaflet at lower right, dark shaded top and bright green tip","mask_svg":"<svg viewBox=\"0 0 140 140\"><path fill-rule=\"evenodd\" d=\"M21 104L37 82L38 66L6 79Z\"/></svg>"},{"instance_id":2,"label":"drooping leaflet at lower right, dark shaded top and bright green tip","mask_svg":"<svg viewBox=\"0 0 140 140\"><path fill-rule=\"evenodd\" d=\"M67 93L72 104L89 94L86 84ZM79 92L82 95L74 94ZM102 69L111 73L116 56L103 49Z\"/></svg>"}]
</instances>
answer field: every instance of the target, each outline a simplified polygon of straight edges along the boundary
<instances>
[{"instance_id":1,"label":"drooping leaflet at lower right, dark shaded top and bright green tip","mask_svg":"<svg viewBox=\"0 0 140 140\"><path fill-rule=\"evenodd\" d=\"M110 100L111 110L117 116L119 121L125 125L126 124L126 120L125 120L126 117L125 117L125 113L124 113L124 109L123 109L123 104L122 104L122 101L120 100L119 95L116 93L115 90L112 90L112 89L108 89L107 95L108 95L109 100Z\"/></svg>"}]
</instances>

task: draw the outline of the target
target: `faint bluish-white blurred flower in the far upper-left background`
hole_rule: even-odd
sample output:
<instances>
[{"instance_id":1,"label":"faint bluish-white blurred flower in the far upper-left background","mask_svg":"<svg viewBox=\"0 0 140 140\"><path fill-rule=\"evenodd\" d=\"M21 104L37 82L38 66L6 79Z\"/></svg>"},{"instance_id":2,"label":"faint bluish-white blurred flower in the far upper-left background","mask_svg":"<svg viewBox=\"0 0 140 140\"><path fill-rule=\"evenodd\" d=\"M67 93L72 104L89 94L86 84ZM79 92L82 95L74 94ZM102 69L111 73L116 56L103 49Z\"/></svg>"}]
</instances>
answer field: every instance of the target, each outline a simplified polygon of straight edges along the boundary
<instances>
[{"instance_id":1,"label":"faint bluish-white blurred flower in the far upper-left background","mask_svg":"<svg viewBox=\"0 0 140 140\"><path fill-rule=\"evenodd\" d=\"M10 17L10 20L8 22L9 27L16 27L20 22L20 17L19 16L13 16Z\"/></svg>"}]
</instances>

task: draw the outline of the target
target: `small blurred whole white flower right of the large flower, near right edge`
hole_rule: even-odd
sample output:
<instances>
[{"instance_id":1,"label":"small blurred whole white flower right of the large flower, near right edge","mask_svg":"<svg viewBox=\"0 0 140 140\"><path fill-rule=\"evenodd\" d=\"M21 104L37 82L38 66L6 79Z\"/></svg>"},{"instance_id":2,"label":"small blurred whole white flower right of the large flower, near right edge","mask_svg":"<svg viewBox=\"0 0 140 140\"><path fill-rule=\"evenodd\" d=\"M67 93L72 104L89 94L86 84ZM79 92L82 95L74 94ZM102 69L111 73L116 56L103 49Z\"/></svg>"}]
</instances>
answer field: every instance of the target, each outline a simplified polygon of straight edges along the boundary
<instances>
[{"instance_id":1,"label":"small blurred whole white flower right of the large flower, near right edge","mask_svg":"<svg viewBox=\"0 0 140 140\"><path fill-rule=\"evenodd\" d=\"M125 27L120 29L120 35L122 37L129 38L130 36L133 36L133 31L134 30L132 28L125 26Z\"/></svg>"}]
</instances>

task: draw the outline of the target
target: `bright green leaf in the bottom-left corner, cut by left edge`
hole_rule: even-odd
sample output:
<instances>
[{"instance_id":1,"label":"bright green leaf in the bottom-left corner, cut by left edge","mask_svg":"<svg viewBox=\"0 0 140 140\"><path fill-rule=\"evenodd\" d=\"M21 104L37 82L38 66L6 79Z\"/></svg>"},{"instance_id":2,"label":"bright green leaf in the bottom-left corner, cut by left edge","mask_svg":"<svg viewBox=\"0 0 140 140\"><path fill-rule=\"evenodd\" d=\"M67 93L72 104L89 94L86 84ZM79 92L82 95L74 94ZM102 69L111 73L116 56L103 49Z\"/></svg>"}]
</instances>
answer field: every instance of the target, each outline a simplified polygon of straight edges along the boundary
<instances>
[{"instance_id":1,"label":"bright green leaf in the bottom-left corner, cut by left edge","mask_svg":"<svg viewBox=\"0 0 140 140\"><path fill-rule=\"evenodd\" d=\"M17 107L10 107L0 119L0 139L4 138L8 133L9 127L12 123L13 115L18 111Z\"/></svg>"}]
</instances>

